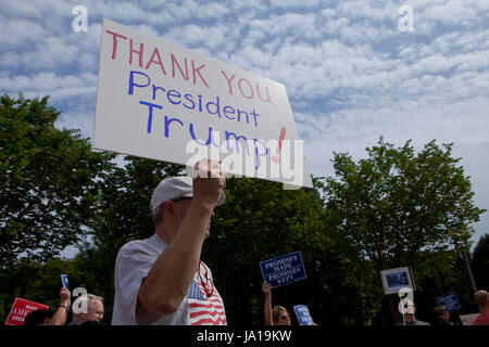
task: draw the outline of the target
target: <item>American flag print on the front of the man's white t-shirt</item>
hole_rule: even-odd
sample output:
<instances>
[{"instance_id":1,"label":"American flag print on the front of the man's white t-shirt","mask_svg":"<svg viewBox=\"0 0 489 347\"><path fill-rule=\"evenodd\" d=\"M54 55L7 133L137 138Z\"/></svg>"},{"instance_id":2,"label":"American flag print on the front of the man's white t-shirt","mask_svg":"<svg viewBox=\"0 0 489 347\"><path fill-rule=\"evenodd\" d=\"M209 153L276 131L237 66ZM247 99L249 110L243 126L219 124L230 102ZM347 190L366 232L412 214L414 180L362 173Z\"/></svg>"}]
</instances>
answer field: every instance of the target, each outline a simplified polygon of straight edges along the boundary
<instances>
[{"instance_id":1,"label":"American flag print on the front of the man's white t-shirt","mask_svg":"<svg viewBox=\"0 0 489 347\"><path fill-rule=\"evenodd\" d=\"M200 262L199 274L196 274L187 293L192 325L226 325L226 311L223 299L214 287L211 270Z\"/></svg>"}]
</instances>

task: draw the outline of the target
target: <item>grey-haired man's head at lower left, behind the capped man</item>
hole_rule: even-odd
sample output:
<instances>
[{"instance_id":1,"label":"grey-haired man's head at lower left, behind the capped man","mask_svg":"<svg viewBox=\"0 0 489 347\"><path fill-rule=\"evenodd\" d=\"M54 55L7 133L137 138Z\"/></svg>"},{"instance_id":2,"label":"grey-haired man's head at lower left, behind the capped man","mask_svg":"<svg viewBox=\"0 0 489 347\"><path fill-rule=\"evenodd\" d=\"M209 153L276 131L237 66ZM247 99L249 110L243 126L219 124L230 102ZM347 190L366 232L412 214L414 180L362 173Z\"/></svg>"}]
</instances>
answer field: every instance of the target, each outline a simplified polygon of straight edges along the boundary
<instances>
[{"instance_id":1,"label":"grey-haired man's head at lower left, behind the capped man","mask_svg":"<svg viewBox=\"0 0 489 347\"><path fill-rule=\"evenodd\" d=\"M103 298L101 296L82 295L73 303L73 321L70 325L101 324L103 313Z\"/></svg>"}]
</instances>

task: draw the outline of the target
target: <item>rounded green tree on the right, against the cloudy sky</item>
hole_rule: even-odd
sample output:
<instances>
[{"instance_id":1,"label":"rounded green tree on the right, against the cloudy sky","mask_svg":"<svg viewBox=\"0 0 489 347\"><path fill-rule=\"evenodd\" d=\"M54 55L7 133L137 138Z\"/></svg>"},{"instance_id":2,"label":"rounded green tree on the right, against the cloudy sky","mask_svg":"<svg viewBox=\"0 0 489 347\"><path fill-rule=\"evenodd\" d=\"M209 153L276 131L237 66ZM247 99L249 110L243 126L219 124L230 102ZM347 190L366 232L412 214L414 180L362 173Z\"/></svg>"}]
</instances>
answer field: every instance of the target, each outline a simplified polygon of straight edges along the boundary
<instances>
[{"instance_id":1,"label":"rounded green tree on the right, against the cloudy sky","mask_svg":"<svg viewBox=\"0 0 489 347\"><path fill-rule=\"evenodd\" d=\"M411 141L394 147L380 138L376 146L366 149L368 157L358 163L335 153L336 177L326 179L323 189L329 232L342 255L362 265L364 277L377 278L365 282L367 293L378 293L373 305L383 304L378 271L411 266L423 291L437 270L450 273L455 248L468 246L471 223L485 210L474 206L469 179L451 149L452 144L439 147L431 141L415 154ZM450 256L431 261L430 255L447 252ZM419 292L416 298L423 300Z\"/></svg>"}]
</instances>

